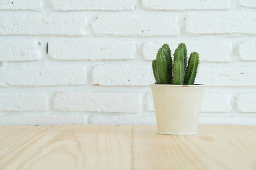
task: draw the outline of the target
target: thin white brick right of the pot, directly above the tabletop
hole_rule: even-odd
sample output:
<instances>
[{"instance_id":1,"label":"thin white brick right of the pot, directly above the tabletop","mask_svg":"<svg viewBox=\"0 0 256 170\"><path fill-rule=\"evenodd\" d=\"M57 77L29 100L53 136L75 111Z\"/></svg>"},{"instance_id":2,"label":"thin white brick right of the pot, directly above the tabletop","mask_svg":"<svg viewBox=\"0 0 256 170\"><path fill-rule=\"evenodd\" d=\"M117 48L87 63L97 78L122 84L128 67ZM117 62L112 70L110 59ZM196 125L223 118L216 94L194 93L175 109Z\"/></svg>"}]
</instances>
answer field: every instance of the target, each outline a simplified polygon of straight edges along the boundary
<instances>
[{"instance_id":1,"label":"thin white brick right of the pot, directly above the tabletop","mask_svg":"<svg viewBox=\"0 0 256 170\"><path fill-rule=\"evenodd\" d=\"M199 117L199 125L256 125L256 117Z\"/></svg>"}]
</instances>

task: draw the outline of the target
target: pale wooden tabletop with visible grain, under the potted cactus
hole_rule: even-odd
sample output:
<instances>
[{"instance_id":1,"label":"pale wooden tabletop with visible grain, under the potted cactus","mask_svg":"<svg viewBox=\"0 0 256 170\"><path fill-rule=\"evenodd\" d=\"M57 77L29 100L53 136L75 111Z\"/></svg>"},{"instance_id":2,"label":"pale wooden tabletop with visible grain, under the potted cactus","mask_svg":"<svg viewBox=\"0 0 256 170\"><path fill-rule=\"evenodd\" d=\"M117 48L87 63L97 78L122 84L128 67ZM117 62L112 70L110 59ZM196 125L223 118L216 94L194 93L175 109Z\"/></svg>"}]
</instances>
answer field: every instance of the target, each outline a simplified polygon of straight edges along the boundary
<instances>
[{"instance_id":1,"label":"pale wooden tabletop with visible grain, under the potted cactus","mask_svg":"<svg viewBox=\"0 0 256 170\"><path fill-rule=\"evenodd\" d=\"M148 125L0 126L1 170L256 169L256 126L201 125L160 135Z\"/></svg>"}]
</instances>

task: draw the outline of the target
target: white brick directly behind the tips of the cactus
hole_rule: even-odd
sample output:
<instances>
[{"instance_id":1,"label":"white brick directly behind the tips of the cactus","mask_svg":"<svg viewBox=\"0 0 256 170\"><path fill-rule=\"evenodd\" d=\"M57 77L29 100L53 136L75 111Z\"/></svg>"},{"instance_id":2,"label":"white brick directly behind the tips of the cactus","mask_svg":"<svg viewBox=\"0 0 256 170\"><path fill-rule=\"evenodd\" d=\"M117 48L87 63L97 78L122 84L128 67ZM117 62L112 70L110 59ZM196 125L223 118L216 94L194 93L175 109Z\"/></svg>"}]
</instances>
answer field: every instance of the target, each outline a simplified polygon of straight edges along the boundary
<instances>
[{"instance_id":1,"label":"white brick directly behind the tips of the cactus","mask_svg":"<svg viewBox=\"0 0 256 170\"><path fill-rule=\"evenodd\" d=\"M201 62L230 62L232 42L223 41L147 41L143 45L143 58L153 60L163 44L170 45L174 54L177 46L184 42L187 45L188 57L192 52L199 53Z\"/></svg>"}]
</instances>

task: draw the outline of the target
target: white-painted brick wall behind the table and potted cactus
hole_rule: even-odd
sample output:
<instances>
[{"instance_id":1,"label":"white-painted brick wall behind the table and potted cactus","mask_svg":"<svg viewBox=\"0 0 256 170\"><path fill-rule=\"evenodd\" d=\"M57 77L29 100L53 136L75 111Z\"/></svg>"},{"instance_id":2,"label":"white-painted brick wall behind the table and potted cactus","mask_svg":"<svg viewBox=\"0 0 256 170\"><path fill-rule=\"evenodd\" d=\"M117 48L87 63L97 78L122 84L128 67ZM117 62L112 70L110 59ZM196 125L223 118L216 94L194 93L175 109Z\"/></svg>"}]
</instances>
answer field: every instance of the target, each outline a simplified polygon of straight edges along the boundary
<instances>
[{"instance_id":1,"label":"white-painted brick wall behind the table and potted cactus","mask_svg":"<svg viewBox=\"0 0 256 170\"><path fill-rule=\"evenodd\" d=\"M256 125L251 0L0 2L0 125L156 124L151 61L200 54L200 124Z\"/></svg>"}]
</instances>

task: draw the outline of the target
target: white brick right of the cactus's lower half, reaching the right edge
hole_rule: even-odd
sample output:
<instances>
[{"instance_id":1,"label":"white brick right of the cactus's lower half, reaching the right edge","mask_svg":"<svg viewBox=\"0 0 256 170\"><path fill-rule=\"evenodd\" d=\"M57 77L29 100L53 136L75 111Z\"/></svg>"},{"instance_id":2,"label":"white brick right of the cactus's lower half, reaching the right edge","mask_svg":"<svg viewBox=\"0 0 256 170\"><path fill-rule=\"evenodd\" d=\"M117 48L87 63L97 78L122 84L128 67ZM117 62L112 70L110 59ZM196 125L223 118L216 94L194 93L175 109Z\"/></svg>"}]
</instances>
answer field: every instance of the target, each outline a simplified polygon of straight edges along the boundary
<instances>
[{"instance_id":1,"label":"white brick right of the cactus's lower half, reaching the right edge","mask_svg":"<svg viewBox=\"0 0 256 170\"><path fill-rule=\"evenodd\" d=\"M256 66L203 66L196 77L196 83L207 86L256 86Z\"/></svg>"}]
</instances>

